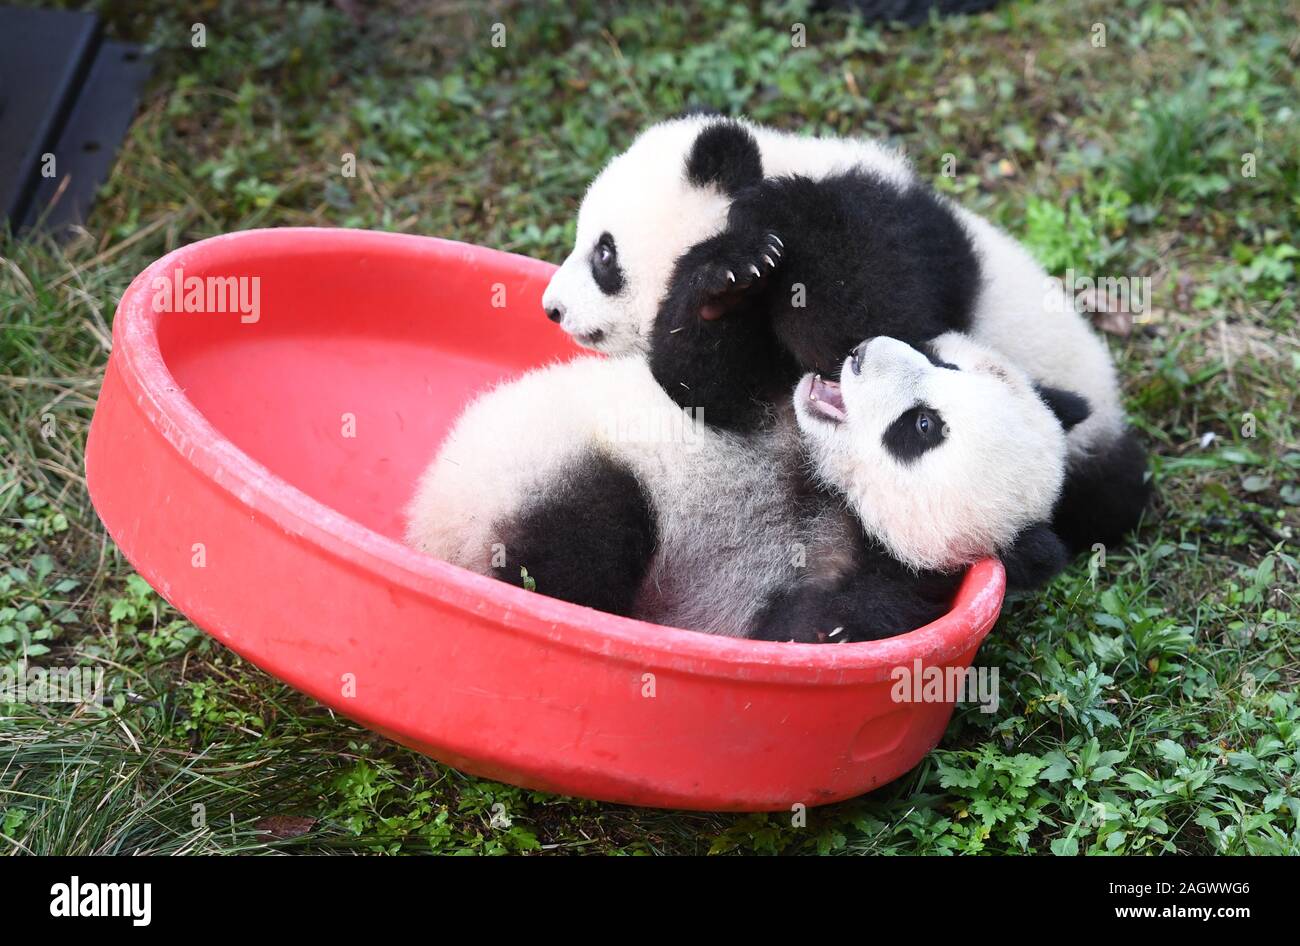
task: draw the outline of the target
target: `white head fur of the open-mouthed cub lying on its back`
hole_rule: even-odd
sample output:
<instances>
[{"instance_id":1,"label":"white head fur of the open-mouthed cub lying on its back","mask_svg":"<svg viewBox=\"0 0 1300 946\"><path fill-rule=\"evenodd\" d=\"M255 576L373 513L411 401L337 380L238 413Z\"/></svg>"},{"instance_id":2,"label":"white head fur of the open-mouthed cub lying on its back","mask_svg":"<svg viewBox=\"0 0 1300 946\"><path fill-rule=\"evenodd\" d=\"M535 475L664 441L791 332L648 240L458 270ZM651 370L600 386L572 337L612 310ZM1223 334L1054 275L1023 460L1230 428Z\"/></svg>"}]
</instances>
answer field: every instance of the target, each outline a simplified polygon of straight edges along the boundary
<instances>
[{"instance_id":1,"label":"white head fur of the open-mouthed cub lying on its back","mask_svg":"<svg viewBox=\"0 0 1300 946\"><path fill-rule=\"evenodd\" d=\"M794 409L818 474L848 496L867 533L913 568L950 570L1050 518L1066 441L1030 378L1005 356L958 333L933 346L959 370L875 338L861 373L849 363L841 372L844 420L812 409L812 376L796 389ZM944 439L904 463L883 435L918 405L939 413Z\"/></svg>"}]
</instances>

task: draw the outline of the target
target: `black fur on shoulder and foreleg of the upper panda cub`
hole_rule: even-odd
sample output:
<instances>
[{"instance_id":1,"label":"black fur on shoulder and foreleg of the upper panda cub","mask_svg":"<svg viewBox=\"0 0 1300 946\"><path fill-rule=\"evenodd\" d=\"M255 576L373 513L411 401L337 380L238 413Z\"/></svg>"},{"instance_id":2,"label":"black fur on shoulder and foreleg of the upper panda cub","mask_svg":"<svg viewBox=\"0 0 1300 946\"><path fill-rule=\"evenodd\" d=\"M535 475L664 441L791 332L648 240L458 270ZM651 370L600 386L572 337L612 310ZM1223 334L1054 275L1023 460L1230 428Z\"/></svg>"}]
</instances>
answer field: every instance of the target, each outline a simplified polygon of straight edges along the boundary
<instances>
[{"instance_id":1,"label":"black fur on shoulder and foreleg of the upper panda cub","mask_svg":"<svg viewBox=\"0 0 1300 946\"><path fill-rule=\"evenodd\" d=\"M727 229L677 260L651 370L706 422L744 429L755 398L784 398L805 370L838 377L864 338L919 344L967 329L979 278L970 236L926 187L857 170L771 178L741 190ZM727 350L736 337L744 352ZM706 368L718 374L701 385Z\"/></svg>"}]
</instances>

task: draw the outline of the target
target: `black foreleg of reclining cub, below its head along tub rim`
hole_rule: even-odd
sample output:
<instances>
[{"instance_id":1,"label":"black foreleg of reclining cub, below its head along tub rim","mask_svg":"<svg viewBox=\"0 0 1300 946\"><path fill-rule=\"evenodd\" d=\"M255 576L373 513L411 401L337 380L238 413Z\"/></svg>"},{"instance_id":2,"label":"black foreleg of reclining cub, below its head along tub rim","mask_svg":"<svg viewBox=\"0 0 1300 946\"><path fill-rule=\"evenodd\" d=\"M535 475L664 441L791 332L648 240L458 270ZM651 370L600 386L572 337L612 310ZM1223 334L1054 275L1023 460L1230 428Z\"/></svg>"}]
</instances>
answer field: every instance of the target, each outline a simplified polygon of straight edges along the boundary
<instances>
[{"instance_id":1,"label":"black foreleg of reclining cub, below its head along tub rim","mask_svg":"<svg viewBox=\"0 0 1300 946\"><path fill-rule=\"evenodd\" d=\"M751 637L800 643L880 641L948 612L961 585L959 572L913 572L862 535L861 528L858 534L854 568L846 576L803 581L774 595Z\"/></svg>"}]
</instances>

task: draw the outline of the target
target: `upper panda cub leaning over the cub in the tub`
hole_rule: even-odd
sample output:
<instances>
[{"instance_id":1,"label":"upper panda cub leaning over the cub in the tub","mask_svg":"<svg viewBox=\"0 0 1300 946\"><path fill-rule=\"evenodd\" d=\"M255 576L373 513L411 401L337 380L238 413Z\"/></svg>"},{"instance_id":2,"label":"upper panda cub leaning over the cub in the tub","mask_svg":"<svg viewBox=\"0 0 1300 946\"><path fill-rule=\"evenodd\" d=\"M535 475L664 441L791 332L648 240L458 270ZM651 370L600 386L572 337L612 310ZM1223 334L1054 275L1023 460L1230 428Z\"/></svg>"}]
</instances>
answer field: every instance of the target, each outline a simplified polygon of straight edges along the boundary
<instances>
[{"instance_id":1,"label":"upper panda cub leaning over the cub in the tub","mask_svg":"<svg viewBox=\"0 0 1300 946\"><path fill-rule=\"evenodd\" d=\"M1071 548L1114 542L1147 503L1105 343L1023 247L875 142L720 116L649 127L588 190L543 308L742 434L862 338L965 331L1089 405L1053 516Z\"/></svg>"}]
</instances>

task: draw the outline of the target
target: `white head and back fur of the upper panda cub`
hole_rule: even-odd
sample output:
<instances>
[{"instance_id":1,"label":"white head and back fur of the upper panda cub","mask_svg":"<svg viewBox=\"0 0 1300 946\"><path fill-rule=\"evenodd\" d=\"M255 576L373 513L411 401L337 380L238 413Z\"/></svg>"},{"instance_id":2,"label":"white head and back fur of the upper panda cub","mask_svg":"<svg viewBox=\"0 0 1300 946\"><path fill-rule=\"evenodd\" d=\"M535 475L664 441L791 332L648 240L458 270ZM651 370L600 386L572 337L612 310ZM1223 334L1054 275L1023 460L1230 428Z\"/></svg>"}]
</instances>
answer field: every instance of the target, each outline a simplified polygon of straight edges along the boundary
<instances>
[{"instance_id":1,"label":"white head and back fur of the upper panda cub","mask_svg":"<svg viewBox=\"0 0 1300 946\"><path fill-rule=\"evenodd\" d=\"M543 296L546 307L563 307L562 325L580 343L611 355L644 353L673 262L725 226L725 195L693 187L685 177L692 144L714 121L693 116L650 126L592 183L578 211L573 252ZM742 123L758 142L768 177L797 173L820 179L861 166L904 188L916 185L907 161L876 142ZM1112 441L1123 429L1123 408L1105 342L1019 243L983 217L953 209L971 235L983 273L971 334L1035 379L1088 400L1091 416L1069 435L1071 455ZM602 233L614 236L627 279L624 292L614 298L601 292L589 265ZM595 330L604 333L599 342L584 338Z\"/></svg>"}]
</instances>

